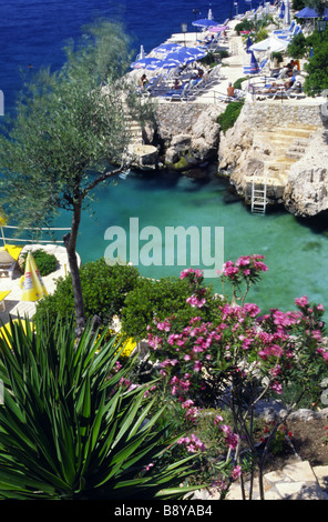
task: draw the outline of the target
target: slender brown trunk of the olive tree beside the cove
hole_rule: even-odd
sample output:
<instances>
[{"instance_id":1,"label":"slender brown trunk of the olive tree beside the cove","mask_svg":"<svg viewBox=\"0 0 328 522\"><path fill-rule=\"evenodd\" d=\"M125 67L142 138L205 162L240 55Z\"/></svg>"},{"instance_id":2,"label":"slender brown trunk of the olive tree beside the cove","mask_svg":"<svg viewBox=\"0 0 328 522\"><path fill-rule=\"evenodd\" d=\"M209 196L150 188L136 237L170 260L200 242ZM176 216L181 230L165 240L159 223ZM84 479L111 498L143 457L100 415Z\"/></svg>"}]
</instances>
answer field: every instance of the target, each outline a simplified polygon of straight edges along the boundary
<instances>
[{"instance_id":1,"label":"slender brown trunk of the olive tree beside the cove","mask_svg":"<svg viewBox=\"0 0 328 522\"><path fill-rule=\"evenodd\" d=\"M75 322L76 322L75 329L76 329L78 338L81 337L82 331L84 330L85 323L86 323L79 263L78 263L78 257L76 257L76 241L78 241L79 227L81 222L81 209L82 209L82 202L78 200L78 202L74 202L71 232L64 235L63 238L64 245L68 252L70 272L71 272L71 278L72 278L74 304L75 304Z\"/></svg>"}]
</instances>

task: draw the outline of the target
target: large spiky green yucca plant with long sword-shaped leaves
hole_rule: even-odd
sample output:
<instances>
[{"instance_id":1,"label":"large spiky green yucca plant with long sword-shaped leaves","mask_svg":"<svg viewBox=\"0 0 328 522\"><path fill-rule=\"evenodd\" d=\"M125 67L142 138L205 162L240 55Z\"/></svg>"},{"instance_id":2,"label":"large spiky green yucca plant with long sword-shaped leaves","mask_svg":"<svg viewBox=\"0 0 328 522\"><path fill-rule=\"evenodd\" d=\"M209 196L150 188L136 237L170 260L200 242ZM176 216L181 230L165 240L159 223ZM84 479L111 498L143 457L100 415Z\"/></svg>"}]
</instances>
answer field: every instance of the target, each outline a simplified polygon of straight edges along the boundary
<instances>
[{"instance_id":1,"label":"large spiky green yucca plant with long sword-shaped leaves","mask_svg":"<svg viewBox=\"0 0 328 522\"><path fill-rule=\"evenodd\" d=\"M113 337L74 324L10 323L0 337L0 498L180 499L193 459L170 460L176 440L151 413L147 385L122 383ZM154 464L146 471L148 464Z\"/></svg>"}]
</instances>

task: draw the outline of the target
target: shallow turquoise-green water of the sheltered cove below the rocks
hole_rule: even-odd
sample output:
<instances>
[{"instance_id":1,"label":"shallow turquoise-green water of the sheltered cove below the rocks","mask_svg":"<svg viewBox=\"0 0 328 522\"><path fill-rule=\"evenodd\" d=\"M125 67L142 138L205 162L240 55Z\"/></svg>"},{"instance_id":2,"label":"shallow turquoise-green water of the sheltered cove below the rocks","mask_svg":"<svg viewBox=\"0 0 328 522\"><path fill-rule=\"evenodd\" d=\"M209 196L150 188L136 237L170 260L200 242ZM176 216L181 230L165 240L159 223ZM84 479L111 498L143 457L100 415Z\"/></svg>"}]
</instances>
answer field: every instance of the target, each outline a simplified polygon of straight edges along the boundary
<instances>
[{"instance_id":1,"label":"shallow turquoise-green water of the sheltered cove below the rocks","mask_svg":"<svg viewBox=\"0 0 328 522\"><path fill-rule=\"evenodd\" d=\"M81 223L78 250L83 262L104 255L112 243L104 239L110 227L124 229L129 241L130 218L139 219L140 229L156 227L163 237L168 225L212 230L223 227L224 261L259 253L269 267L248 301L256 302L263 311L289 310L294 309L295 298L306 294L310 301L328 307L327 219L299 221L284 210L268 211L264 217L252 214L239 200L227 202L230 200L227 183L211 178L195 181L176 174L132 173L126 180L119 180L116 187L101 187L95 195L96 202L91 204L94 218L84 213ZM62 215L59 222L68 225L70 215ZM145 241L140 242L140 247L143 244ZM183 267L139 269L143 275L160 278L178 275ZM207 282L221 291L218 279Z\"/></svg>"}]
</instances>

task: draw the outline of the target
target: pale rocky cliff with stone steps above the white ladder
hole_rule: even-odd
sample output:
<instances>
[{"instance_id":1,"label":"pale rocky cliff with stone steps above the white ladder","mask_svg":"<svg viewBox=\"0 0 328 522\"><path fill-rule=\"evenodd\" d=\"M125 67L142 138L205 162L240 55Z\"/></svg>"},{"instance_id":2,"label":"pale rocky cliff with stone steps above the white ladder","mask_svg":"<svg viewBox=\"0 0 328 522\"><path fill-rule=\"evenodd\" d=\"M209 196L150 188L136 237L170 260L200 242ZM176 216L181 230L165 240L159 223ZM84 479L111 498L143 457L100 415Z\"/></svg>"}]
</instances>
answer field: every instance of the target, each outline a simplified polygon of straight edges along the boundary
<instances>
[{"instance_id":1,"label":"pale rocky cliff with stone steps above the white ladder","mask_svg":"<svg viewBox=\"0 0 328 522\"><path fill-rule=\"evenodd\" d=\"M219 172L250 199L252 181L266 182L268 202L296 215L328 210L327 119L320 103L248 101L219 140Z\"/></svg>"}]
</instances>

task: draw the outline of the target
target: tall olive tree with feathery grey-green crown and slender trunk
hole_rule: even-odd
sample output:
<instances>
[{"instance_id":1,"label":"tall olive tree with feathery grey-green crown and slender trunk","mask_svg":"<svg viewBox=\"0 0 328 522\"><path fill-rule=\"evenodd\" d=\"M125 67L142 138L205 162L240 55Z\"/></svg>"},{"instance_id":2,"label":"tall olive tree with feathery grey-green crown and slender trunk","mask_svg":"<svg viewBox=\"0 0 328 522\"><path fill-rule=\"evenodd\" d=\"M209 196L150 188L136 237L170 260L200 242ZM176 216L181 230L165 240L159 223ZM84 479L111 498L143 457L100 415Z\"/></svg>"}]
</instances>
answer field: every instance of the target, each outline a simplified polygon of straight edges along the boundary
<instances>
[{"instance_id":1,"label":"tall olive tree with feathery grey-green crown and slender trunk","mask_svg":"<svg viewBox=\"0 0 328 522\"><path fill-rule=\"evenodd\" d=\"M81 42L66 46L59 71L43 69L24 86L0 137L0 201L9 219L41 227L60 209L72 212L63 239L78 331L85 324L76 258L81 214L93 189L126 168L127 118L148 111L126 80L130 46L116 23L89 27Z\"/></svg>"}]
</instances>

